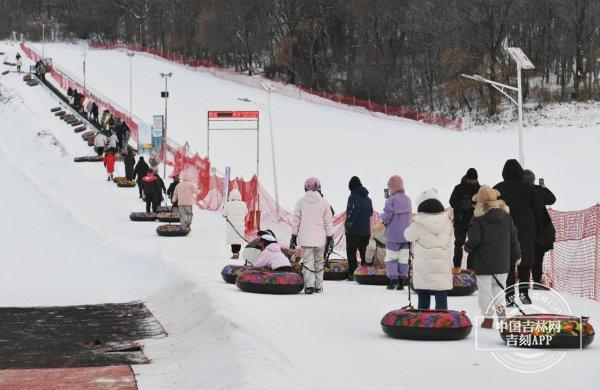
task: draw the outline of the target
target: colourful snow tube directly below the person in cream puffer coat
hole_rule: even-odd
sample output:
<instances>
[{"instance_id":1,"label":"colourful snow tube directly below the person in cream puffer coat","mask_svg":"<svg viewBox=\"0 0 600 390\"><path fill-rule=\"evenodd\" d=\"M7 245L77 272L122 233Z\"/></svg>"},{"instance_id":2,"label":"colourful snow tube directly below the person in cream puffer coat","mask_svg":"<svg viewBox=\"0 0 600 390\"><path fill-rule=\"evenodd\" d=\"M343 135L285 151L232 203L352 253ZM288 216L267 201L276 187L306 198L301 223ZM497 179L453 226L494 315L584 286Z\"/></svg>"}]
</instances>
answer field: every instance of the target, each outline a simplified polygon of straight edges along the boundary
<instances>
[{"instance_id":1,"label":"colourful snow tube directly below the person in cream puffer coat","mask_svg":"<svg viewBox=\"0 0 600 390\"><path fill-rule=\"evenodd\" d=\"M381 328L388 336L410 340L460 340L473 324L464 311L402 308L387 313Z\"/></svg>"}]
</instances>

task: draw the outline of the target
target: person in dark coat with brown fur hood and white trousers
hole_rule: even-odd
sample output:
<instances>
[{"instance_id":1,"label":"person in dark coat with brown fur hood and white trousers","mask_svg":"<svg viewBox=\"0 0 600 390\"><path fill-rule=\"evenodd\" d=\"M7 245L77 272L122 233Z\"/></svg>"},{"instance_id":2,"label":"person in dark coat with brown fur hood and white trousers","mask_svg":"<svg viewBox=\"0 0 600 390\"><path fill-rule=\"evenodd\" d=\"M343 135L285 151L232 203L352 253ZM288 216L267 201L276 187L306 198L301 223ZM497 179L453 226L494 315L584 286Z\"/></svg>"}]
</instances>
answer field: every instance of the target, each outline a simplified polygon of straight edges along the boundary
<instances>
[{"instance_id":1,"label":"person in dark coat with brown fur hood and white trousers","mask_svg":"<svg viewBox=\"0 0 600 390\"><path fill-rule=\"evenodd\" d=\"M512 264L518 266L521 246L517 228L504 201L499 200L500 192L488 185L482 185L473 200L477 202L473 219L469 226L469 236L465 249L474 254L475 277L479 292L478 303L485 316L482 328L492 328L494 309L498 316L504 316L504 307L494 301L501 297L503 287ZM506 286L508 287L508 286ZM507 305L514 302L507 302Z\"/></svg>"}]
</instances>

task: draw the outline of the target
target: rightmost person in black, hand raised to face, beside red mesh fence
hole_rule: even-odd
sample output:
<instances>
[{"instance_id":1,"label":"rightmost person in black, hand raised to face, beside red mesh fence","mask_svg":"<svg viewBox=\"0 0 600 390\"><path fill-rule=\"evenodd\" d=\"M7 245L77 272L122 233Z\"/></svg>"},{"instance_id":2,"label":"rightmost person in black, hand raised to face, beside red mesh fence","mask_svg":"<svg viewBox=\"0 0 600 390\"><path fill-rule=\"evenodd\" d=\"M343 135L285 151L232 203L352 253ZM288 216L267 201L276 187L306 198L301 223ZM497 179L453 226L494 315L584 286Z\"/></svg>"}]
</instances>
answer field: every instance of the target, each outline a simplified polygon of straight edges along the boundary
<instances>
[{"instance_id":1,"label":"rightmost person in black, hand raised to face, beside red mesh fence","mask_svg":"<svg viewBox=\"0 0 600 390\"><path fill-rule=\"evenodd\" d=\"M526 169L523 172L523 180L535 186L535 189L542 198L544 205L551 206L556 202L556 196L554 196L552 191L546 188L544 183L540 183L541 185L535 184L535 174L529 169ZM552 224L552 218L550 218L550 214L548 214L546 207L543 207L540 210L538 218L541 220L541 228L535 237L535 262L531 268L531 274L533 276L533 281L536 283L536 285L534 285L534 289L544 289L544 287L542 287L542 268L544 265L544 255L546 252L554 248L554 241L556 241L556 229Z\"/></svg>"}]
</instances>

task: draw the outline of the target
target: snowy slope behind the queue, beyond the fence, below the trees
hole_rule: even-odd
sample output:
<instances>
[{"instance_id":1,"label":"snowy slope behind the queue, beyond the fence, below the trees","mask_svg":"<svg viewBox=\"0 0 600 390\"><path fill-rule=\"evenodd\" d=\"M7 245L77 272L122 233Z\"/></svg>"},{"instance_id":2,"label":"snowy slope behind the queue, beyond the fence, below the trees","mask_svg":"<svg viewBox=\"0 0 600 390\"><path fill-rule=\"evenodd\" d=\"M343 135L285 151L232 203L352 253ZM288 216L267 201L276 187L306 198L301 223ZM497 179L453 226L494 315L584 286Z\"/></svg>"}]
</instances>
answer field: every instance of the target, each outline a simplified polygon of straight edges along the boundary
<instances>
[{"instance_id":1,"label":"snowy slope behind the queue, beyond the fence, below the trees","mask_svg":"<svg viewBox=\"0 0 600 390\"><path fill-rule=\"evenodd\" d=\"M41 45L29 43L41 53ZM82 46L46 44L46 54L68 72L83 79ZM129 107L129 61L124 51L87 52L87 83L111 99ZM169 80L169 136L188 141L192 150L206 153L206 111L211 109L258 109L261 126L261 177L272 191L267 110L238 100L247 97L266 103L260 89L215 78L166 60L138 53L133 60L133 112L150 122L164 110L159 72L173 72ZM345 207L347 183L352 175L363 179L377 209L383 205L383 188L392 174L405 178L413 198L427 187L440 189L448 199L454 185L470 166L479 170L482 183L501 180L507 158L517 155L514 129L500 132L463 132L423 125L414 121L377 118L343 109L308 103L274 94L273 127L281 203L290 210L302 192L306 177L322 179L325 196L336 211ZM600 125L586 128L543 126L527 129L527 167L557 195L555 208L583 209L598 202L598 191L589 188L600 164ZM211 134L211 160L234 175L255 172L255 138L251 133Z\"/></svg>"}]
</instances>

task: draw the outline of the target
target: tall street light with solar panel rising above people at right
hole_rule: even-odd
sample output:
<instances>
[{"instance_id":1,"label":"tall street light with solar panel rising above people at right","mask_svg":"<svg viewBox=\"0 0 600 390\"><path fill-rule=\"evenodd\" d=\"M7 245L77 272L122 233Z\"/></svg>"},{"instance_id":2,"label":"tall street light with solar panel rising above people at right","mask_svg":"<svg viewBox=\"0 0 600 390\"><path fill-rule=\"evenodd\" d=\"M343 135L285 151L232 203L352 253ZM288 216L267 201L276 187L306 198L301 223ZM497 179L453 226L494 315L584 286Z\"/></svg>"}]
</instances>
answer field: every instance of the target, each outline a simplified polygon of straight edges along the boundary
<instances>
[{"instance_id":1,"label":"tall street light with solar panel rising above people at right","mask_svg":"<svg viewBox=\"0 0 600 390\"><path fill-rule=\"evenodd\" d=\"M522 69L535 69L535 66L531 63L529 58L523 53L523 50L519 47L509 47L506 49L511 58L517 63L517 86L506 85L497 81L486 79L480 75L467 75L462 74L461 77L465 77L471 80L479 81L482 83L490 84L496 90L500 91L506 96L511 102L517 106L518 110L518 125L519 125L519 162L525 166L525 153L523 152L523 86L521 83L521 70ZM508 94L506 90L516 91L517 100Z\"/></svg>"}]
</instances>

